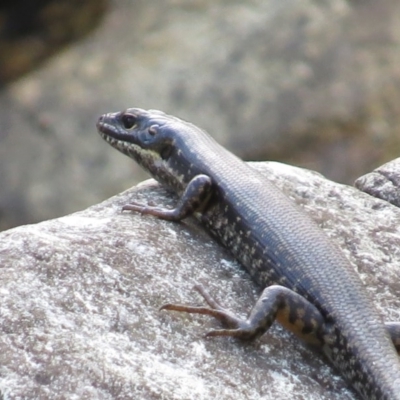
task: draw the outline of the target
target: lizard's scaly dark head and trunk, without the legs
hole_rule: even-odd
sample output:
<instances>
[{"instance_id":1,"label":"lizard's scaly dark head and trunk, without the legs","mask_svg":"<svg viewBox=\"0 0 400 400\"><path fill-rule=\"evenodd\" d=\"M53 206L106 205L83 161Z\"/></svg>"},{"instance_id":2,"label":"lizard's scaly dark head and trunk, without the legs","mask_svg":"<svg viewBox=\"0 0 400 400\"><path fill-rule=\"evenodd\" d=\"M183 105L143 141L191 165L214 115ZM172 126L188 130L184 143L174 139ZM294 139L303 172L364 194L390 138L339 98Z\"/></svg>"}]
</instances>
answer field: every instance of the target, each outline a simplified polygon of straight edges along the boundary
<instances>
[{"instance_id":1,"label":"lizard's scaly dark head and trunk, without the legs","mask_svg":"<svg viewBox=\"0 0 400 400\"><path fill-rule=\"evenodd\" d=\"M204 225L261 286L283 285L302 296L303 305L313 305L316 319L324 320L318 326L324 352L362 398L400 400L398 355L340 249L275 186L201 129L160 111L127 113L135 121L129 129L121 122L124 113L103 116L102 136L179 194L196 175L210 177L200 209ZM296 305L291 291L289 323L307 310Z\"/></svg>"}]
</instances>

